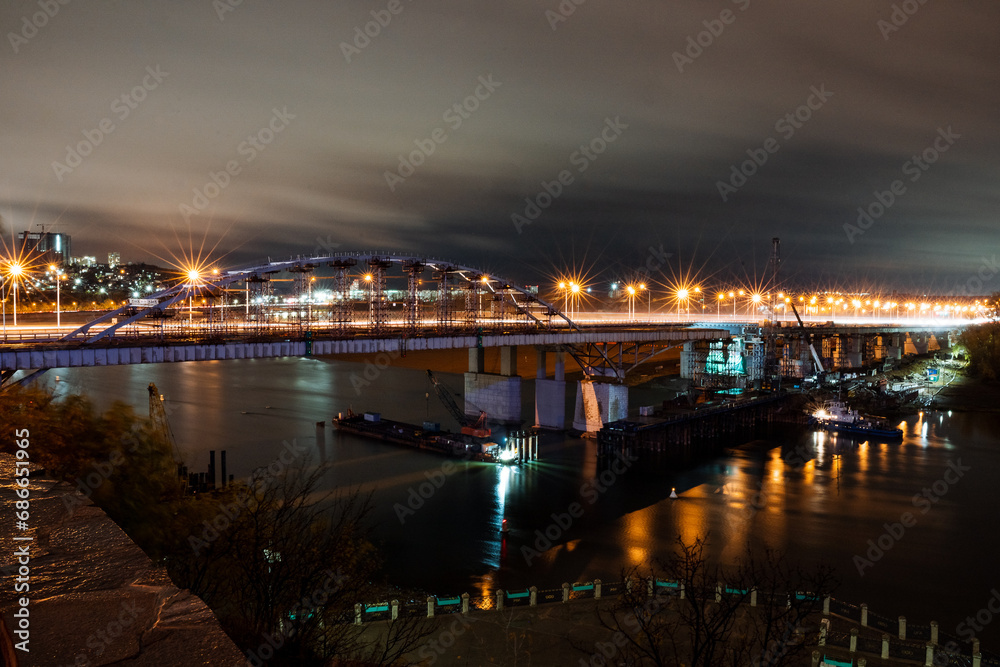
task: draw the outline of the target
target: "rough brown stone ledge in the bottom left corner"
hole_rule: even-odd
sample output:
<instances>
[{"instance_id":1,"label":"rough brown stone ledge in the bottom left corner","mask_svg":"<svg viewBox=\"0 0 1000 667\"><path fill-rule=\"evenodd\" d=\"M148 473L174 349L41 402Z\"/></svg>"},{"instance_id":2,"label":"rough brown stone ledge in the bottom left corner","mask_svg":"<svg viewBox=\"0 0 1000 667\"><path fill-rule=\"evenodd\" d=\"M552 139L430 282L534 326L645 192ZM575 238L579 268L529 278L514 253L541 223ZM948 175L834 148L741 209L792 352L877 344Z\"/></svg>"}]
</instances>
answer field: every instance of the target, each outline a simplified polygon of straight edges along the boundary
<instances>
[{"instance_id":1,"label":"rough brown stone ledge in the bottom left corner","mask_svg":"<svg viewBox=\"0 0 1000 667\"><path fill-rule=\"evenodd\" d=\"M22 488L14 469L14 457L0 454L0 512L11 526ZM246 664L212 610L89 498L44 477L31 477L27 489L30 519L16 536L0 535L2 569L19 571L25 584L17 599L0 600L7 628L28 633L28 652L14 653L20 664ZM28 555L16 557L22 549Z\"/></svg>"}]
</instances>

